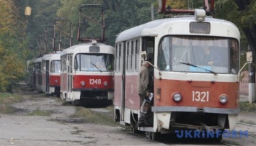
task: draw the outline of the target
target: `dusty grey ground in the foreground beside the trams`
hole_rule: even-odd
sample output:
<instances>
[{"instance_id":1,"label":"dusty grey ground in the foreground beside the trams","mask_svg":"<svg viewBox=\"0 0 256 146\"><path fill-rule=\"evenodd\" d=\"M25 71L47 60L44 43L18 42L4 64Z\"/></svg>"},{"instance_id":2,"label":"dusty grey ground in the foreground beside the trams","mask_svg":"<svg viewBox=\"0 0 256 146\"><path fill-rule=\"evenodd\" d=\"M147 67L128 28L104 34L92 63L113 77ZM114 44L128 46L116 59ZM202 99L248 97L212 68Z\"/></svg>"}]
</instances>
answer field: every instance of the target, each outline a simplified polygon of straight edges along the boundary
<instances>
[{"instance_id":1,"label":"dusty grey ground in the foreground beside the trams","mask_svg":"<svg viewBox=\"0 0 256 146\"><path fill-rule=\"evenodd\" d=\"M13 114L0 114L0 145L255 145L256 142L255 113L239 115L240 121L252 121L248 125L241 122L236 128L249 130L253 135L248 138L224 138L221 143L171 137L152 141L144 134L132 134L117 124L94 124L81 117L71 117L76 113L76 106L32 91L29 86L21 85L16 93L25 101L13 105L16 108ZM112 115L107 108L91 110Z\"/></svg>"}]
</instances>

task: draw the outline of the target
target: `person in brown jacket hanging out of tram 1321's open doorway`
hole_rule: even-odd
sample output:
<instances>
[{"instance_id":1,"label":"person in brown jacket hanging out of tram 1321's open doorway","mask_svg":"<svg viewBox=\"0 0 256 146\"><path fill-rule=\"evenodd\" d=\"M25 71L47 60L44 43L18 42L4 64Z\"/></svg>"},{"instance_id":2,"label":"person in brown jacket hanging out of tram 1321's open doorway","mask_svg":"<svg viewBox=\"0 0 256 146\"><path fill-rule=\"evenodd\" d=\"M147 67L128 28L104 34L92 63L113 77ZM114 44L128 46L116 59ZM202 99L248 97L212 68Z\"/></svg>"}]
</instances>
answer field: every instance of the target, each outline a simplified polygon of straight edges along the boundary
<instances>
[{"instance_id":1,"label":"person in brown jacket hanging out of tram 1321's open doorway","mask_svg":"<svg viewBox=\"0 0 256 146\"><path fill-rule=\"evenodd\" d=\"M138 76L138 95L140 97L141 113L138 119L138 127L150 127L153 125L153 112L151 106L153 105L153 88L151 88L151 73L149 62L151 58L145 60L141 66Z\"/></svg>"}]
</instances>

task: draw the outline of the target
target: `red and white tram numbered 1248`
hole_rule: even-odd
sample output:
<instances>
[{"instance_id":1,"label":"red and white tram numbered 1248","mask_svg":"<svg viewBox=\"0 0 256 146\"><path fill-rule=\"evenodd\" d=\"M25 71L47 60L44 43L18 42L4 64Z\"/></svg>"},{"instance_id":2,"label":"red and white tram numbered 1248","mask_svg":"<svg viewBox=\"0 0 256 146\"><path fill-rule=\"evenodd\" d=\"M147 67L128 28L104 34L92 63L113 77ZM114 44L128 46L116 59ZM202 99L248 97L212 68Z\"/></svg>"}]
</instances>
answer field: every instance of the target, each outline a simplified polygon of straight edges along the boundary
<instances>
[{"instance_id":1,"label":"red and white tram numbered 1248","mask_svg":"<svg viewBox=\"0 0 256 146\"><path fill-rule=\"evenodd\" d=\"M74 45L61 52L61 99L113 99L114 47L92 42Z\"/></svg>"}]
</instances>

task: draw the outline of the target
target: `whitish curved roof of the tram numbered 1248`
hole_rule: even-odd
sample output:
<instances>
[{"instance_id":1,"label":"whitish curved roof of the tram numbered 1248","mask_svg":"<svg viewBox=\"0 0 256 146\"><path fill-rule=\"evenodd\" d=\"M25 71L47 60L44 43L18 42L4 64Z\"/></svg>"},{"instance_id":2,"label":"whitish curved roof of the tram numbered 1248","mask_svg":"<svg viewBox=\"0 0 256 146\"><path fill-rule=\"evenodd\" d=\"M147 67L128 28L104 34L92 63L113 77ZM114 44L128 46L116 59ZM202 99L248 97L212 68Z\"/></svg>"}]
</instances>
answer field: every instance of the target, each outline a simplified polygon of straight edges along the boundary
<instances>
[{"instance_id":1,"label":"whitish curved roof of the tram numbered 1248","mask_svg":"<svg viewBox=\"0 0 256 146\"><path fill-rule=\"evenodd\" d=\"M115 48L110 45L105 45L103 43L97 43L96 45L92 45L92 42L88 42L88 43L81 43L79 45L74 45L69 48L66 48L61 52L61 55L76 54L76 53L90 53L89 47L91 46L99 46L100 53L109 53L109 54L115 53L114 52Z\"/></svg>"}]
</instances>

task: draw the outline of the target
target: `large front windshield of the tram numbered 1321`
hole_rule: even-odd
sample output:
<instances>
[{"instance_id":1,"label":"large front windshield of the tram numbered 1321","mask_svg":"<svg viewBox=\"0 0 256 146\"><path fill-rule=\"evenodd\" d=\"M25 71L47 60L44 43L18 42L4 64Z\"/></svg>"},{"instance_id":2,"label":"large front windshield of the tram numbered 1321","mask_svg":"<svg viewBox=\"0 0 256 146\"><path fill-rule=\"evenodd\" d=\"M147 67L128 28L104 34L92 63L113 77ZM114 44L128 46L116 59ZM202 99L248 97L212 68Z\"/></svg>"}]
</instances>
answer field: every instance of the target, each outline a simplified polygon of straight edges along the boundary
<instances>
[{"instance_id":1,"label":"large front windshield of the tram numbered 1321","mask_svg":"<svg viewBox=\"0 0 256 146\"><path fill-rule=\"evenodd\" d=\"M162 71L237 74L239 45L226 37L167 36L157 65Z\"/></svg>"}]
</instances>

